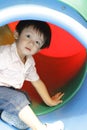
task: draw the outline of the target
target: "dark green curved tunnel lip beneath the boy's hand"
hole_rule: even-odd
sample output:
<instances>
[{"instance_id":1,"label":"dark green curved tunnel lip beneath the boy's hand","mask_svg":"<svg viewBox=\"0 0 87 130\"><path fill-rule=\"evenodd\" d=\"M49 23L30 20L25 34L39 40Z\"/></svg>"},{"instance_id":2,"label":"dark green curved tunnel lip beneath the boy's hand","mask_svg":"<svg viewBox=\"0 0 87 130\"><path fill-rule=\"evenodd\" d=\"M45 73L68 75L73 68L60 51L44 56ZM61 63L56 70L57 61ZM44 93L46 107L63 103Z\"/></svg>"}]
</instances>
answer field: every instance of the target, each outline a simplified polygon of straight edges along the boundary
<instances>
[{"instance_id":1,"label":"dark green curved tunnel lip beneath the boy's hand","mask_svg":"<svg viewBox=\"0 0 87 130\"><path fill-rule=\"evenodd\" d=\"M63 96L63 103L55 107L49 107L46 106L44 103L33 102L31 108L36 113L36 115L43 115L64 106L78 92L84 81L85 75L86 75L86 63L83 65L79 73L70 82L68 82L62 88L55 90L55 92L62 91L65 93L65 95Z\"/></svg>"}]
</instances>

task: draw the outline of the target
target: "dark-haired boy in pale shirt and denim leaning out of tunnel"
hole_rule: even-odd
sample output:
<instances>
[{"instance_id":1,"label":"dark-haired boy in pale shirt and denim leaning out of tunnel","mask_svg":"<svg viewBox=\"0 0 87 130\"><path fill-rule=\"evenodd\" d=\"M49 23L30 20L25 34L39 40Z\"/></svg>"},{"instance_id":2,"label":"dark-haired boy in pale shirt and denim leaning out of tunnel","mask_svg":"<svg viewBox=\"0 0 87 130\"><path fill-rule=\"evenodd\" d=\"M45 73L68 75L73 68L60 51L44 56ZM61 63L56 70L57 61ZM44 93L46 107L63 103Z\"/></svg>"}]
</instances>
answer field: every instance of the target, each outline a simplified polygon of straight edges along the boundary
<instances>
[{"instance_id":1,"label":"dark-haired boy in pale shirt and denim leaning out of tunnel","mask_svg":"<svg viewBox=\"0 0 87 130\"><path fill-rule=\"evenodd\" d=\"M31 110L26 95L18 90L24 80L28 80L48 106L62 102L64 94L61 92L50 97L36 72L32 57L40 49L49 47L49 25L36 20L20 21L16 26L14 38L15 42L12 45L0 47L0 110L3 111L1 118L17 128L21 125L20 129L30 127L32 130L63 130L64 125L61 121L56 124L58 128L51 124L43 125Z\"/></svg>"}]
</instances>

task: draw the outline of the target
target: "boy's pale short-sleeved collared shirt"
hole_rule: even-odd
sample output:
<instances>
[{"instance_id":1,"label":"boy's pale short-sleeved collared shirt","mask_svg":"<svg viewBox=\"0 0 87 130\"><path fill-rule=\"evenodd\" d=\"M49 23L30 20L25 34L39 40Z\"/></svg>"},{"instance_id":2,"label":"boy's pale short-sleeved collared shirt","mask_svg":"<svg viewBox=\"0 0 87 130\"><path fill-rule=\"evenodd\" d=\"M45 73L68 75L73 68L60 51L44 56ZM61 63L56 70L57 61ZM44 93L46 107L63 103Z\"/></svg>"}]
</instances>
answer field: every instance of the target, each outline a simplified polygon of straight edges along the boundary
<instances>
[{"instance_id":1,"label":"boy's pale short-sleeved collared shirt","mask_svg":"<svg viewBox=\"0 0 87 130\"><path fill-rule=\"evenodd\" d=\"M17 54L16 43L0 46L0 86L13 86L20 89L24 80L36 81L38 79L32 56L28 57L26 63L23 64Z\"/></svg>"}]
</instances>

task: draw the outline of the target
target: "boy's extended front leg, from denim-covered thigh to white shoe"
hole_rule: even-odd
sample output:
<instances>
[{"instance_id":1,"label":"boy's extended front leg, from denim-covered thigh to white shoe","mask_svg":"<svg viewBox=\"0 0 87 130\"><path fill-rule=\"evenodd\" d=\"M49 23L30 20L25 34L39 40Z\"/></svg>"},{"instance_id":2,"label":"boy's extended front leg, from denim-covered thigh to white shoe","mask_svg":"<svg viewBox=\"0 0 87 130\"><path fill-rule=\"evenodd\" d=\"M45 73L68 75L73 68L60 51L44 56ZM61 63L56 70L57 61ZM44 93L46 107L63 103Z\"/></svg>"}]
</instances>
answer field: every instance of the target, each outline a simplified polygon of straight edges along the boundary
<instances>
[{"instance_id":1,"label":"boy's extended front leg, from denim-covered thigh to white shoe","mask_svg":"<svg viewBox=\"0 0 87 130\"><path fill-rule=\"evenodd\" d=\"M18 91L0 87L0 109L10 114L16 114L32 130L53 130L49 125L43 125L29 106L26 96ZM63 125L58 123L55 130L63 130Z\"/></svg>"}]
</instances>

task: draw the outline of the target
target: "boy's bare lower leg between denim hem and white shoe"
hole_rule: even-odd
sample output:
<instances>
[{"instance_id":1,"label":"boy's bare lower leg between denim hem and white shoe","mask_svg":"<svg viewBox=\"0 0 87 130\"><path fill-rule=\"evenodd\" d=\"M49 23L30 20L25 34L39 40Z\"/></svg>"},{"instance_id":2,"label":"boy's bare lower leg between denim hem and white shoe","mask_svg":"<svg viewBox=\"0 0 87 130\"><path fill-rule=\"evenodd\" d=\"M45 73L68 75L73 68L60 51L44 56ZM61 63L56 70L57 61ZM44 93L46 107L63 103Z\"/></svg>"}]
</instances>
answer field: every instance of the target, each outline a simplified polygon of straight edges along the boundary
<instances>
[{"instance_id":1,"label":"boy's bare lower leg between denim hem and white shoe","mask_svg":"<svg viewBox=\"0 0 87 130\"><path fill-rule=\"evenodd\" d=\"M32 130L45 130L46 126L43 125L32 109L27 105L19 112L19 118L27 124Z\"/></svg>"}]
</instances>

